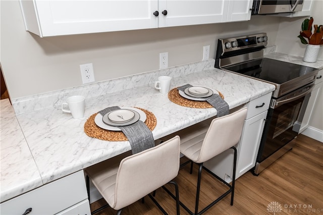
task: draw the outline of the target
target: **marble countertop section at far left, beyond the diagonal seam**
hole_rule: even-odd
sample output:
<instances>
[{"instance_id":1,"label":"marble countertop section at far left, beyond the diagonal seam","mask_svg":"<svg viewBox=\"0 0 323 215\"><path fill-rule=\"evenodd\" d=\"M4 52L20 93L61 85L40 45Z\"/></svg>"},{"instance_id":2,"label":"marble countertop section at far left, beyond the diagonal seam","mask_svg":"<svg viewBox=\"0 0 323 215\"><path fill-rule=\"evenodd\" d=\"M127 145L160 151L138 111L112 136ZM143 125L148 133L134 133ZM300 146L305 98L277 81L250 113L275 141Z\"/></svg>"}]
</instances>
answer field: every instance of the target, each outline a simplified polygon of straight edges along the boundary
<instances>
[{"instance_id":1,"label":"marble countertop section at far left, beyond the diagonal seam","mask_svg":"<svg viewBox=\"0 0 323 215\"><path fill-rule=\"evenodd\" d=\"M42 185L41 177L9 99L1 106L1 202Z\"/></svg>"}]
</instances>

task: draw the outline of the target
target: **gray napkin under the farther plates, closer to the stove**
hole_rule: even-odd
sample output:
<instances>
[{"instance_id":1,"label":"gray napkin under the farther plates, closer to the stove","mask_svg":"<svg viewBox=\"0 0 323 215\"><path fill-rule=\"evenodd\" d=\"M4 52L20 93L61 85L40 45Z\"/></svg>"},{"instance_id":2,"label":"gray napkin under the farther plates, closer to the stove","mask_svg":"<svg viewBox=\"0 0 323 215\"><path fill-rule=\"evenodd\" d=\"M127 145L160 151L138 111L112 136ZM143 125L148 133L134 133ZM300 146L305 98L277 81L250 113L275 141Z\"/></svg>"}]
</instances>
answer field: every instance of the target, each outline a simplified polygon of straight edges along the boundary
<instances>
[{"instance_id":1,"label":"gray napkin under the farther plates, closer to the stove","mask_svg":"<svg viewBox=\"0 0 323 215\"><path fill-rule=\"evenodd\" d=\"M184 92L187 87L192 87L190 84L185 84L183 86L177 87L178 90ZM213 106L213 108L217 109L217 116L223 117L229 114L229 104L221 98L220 95L214 93L213 95L205 98L205 100Z\"/></svg>"}]
</instances>

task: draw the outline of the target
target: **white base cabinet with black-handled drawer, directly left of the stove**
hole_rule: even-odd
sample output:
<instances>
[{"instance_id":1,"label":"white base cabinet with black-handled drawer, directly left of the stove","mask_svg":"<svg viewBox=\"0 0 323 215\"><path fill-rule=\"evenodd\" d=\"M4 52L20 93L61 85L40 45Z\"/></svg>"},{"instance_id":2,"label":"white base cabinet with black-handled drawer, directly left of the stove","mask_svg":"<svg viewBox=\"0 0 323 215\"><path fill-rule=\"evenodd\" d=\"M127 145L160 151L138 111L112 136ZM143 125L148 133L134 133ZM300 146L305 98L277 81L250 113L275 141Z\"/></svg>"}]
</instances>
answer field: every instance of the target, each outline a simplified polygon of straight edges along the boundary
<instances>
[{"instance_id":1,"label":"white base cabinet with black-handled drawer, directly left of the stove","mask_svg":"<svg viewBox=\"0 0 323 215\"><path fill-rule=\"evenodd\" d=\"M272 93L268 93L247 103L247 117L243 125L240 142L237 144L236 179L252 169L256 163L261 135L267 116ZM227 182L232 181L233 150L208 160L204 166Z\"/></svg>"}]
</instances>

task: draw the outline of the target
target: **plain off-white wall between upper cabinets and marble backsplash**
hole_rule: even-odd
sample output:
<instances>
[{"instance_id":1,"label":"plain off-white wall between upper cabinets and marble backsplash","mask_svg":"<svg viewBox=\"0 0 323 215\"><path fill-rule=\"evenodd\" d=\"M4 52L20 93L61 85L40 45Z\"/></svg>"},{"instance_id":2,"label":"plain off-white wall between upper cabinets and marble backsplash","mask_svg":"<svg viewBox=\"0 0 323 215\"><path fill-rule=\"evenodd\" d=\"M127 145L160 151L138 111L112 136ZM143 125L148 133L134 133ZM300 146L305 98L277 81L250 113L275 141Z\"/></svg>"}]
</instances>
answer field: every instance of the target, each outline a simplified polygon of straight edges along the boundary
<instances>
[{"instance_id":1,"label":"plain off-white wall between upper cabinets and marble backsplash","mask_svg":"<svg viewBox=\"0 0 323 215\"><path fill-rule=\"evenodd\" d=\"M80 64L93 63L96 81L202 60L203 45L214 58L217 39L266 32L276 42L279 17L248 22L183 26L40 38L25 31L18 1L1 1L1 64L11 98L82 85ZM264 24L265 23L265 24Z\"/></svg>"}]
</instances>

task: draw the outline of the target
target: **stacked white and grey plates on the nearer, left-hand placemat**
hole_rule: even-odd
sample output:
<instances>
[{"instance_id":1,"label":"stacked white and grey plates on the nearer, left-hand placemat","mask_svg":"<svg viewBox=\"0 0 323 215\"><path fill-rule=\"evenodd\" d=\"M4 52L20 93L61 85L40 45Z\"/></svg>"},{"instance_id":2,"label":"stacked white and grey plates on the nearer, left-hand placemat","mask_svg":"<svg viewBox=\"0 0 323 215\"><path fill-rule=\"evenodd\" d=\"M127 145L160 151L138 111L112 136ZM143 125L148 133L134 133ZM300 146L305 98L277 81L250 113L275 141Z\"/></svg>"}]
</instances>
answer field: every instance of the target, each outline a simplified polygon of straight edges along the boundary
<instances>
[{"instance_id":1,"label":"stacked white and grey plates on the nearer, left-hand placemat","mask_svg":"<svg viewBox=\"0 0 323 215\"><path fill-rule=\"evenodd\" d=\"M94 118L94 122L98 127L111 131L121 131L118 128L119 126L128 126L136 123L138 120L145 122L146 114L139 109L130 107L122 107L104 116L97 114Z\"/></svg>"}]
</instances>

